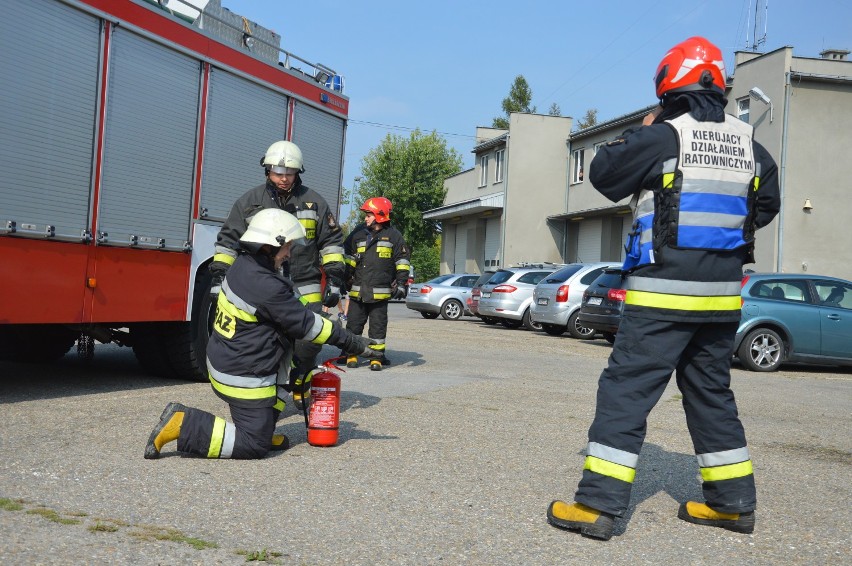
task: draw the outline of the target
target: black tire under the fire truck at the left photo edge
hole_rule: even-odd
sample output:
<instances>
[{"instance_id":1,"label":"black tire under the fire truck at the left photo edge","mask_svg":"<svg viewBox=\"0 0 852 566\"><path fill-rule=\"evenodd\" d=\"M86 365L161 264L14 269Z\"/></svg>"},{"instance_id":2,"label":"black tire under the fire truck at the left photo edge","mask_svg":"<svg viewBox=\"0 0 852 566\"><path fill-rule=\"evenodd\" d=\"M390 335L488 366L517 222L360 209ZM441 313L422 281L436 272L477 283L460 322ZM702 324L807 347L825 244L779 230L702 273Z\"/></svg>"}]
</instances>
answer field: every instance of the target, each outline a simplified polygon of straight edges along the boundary
<instances>
[{"instance_id":1,"label":"black tire under the fire truck at the left photo edge","mask_svg":"<svg viewBox=\"0 0 852 566\"><path fill-rule=\"evenodd\" d=\"M54 324L0 326L0 360L55 362L71 349L79 332Z\"/></svg>"}]
</instances>

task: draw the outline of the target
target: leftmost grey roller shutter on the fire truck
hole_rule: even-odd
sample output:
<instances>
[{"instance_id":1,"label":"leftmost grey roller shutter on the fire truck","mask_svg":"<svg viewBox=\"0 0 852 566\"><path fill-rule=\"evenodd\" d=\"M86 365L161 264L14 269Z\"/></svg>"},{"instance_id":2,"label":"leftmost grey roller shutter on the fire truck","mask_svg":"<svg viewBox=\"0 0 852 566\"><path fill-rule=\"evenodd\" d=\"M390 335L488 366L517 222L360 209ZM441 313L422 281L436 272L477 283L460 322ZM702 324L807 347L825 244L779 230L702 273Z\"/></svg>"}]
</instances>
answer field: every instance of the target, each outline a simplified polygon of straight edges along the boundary
<instances>
[{"instance_id":1,"label":"leftmost grey roller shutter on the fire truck","mask_svg":"<svg viewBox=\"0 0 852 566\"><path fill-rule=\"evenodd\" d=\"M89 225L98 20L45 0L3 4L0 234L14 222L19 235L79 242Z\"/></svg>"}]
</instances>

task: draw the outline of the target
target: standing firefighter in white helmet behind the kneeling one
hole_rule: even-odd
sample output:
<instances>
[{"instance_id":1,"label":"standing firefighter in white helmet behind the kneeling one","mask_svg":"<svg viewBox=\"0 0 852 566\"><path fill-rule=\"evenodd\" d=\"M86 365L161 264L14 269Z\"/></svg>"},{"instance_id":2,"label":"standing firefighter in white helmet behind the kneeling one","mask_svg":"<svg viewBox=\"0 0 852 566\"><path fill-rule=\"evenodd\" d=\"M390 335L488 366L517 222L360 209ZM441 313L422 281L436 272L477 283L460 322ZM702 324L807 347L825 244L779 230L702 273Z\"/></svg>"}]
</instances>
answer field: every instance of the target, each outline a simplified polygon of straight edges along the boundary
<instances>
[{"instance_id":1,"label":"standing firefighter in white helmet behind the kneeling one","mask_svg":"<svg viewBox=\"0 0 852 566\"><path fill-rule=\"evenodd\" d=\"M278 208L295 216L305 229L305 245L293 249L284 266L285 275L301 300L313 312L333 307L340 300L345 265L343 263L343 232L328 203L317 192L302 184L299 176L305 171L302 151L293 142L277 141L269 146L260 159L266 182L241 196L231 208L227 220L216 238L216 251L210 264L213 292L237 257L239 239L249 220L258 211ZM322 288L325 272L326 286ZM302 396L310 390L310 372L316 366L320 348L309 342L296 345L297 367L293 371L293 400L301 408Z\"/></svg>"}]
</instances>

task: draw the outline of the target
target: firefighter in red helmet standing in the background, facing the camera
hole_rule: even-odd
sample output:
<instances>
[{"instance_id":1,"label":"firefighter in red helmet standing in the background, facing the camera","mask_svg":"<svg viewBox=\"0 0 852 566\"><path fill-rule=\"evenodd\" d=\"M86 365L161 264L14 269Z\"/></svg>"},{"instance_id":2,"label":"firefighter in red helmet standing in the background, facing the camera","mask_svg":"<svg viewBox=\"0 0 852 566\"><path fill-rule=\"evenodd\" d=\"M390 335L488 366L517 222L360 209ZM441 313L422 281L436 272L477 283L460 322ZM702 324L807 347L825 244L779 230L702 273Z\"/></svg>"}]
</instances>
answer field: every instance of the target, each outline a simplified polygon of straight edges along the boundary
<instances>
[{"instance_id":1,"label":"firefighter in red helmet standing in the background, facing the camera","mask_svg":"<svg viewBox=\"0 0 852 566\"><path fill-rule=\"evenodd\" d=\"M369 321L368 336L375 342L370 348L382 353L381 359L370 360L374 371L390 363L384 355L388 302L404 299L408 293L411 254L402 234L390 224L392 209L385 197L368 198L361 206L364 223L356 226L343 244L351 275L346 329L360 335ZM350 355L346 365L357 367L358 357Z\"/></svg>"}]
</instances>

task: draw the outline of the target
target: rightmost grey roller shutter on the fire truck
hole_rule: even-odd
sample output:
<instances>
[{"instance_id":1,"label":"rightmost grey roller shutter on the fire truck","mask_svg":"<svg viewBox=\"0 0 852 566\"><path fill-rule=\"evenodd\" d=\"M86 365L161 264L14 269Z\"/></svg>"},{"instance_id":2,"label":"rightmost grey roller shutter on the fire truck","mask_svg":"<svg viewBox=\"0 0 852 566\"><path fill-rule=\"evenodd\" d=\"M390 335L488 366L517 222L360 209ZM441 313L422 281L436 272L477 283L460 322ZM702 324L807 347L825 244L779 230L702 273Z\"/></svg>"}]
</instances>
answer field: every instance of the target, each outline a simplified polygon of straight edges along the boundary
<instances>
[{"instance_id":1,"label":"rightmost grey roller shutter on the fire truck","mask_svg":"<svg viewBox=\"0 0 852 566\"><path fill-rule=\"evenodd\" d=\"M342 118L304 103L296 104L292 141L304 157L302 181L325 199L335 216L340 210L345 126Z\"/></svg>"}]
</instances>

